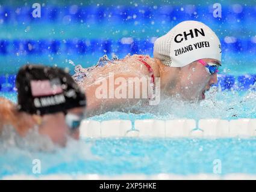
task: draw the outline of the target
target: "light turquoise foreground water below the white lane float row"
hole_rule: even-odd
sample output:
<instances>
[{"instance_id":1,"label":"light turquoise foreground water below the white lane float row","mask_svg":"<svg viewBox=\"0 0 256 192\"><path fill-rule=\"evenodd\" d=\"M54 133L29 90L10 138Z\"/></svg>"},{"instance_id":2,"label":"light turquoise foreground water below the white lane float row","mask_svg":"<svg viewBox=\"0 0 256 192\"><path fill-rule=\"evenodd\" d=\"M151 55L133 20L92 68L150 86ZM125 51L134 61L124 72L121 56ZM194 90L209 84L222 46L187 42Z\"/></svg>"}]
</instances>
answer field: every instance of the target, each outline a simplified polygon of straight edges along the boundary
<instances>
[{"instance_id":1,"label":"light turquoise foreground water below the white lane float row","mask_svg":"<svg viewBox=\"0 0 256 192\"><path fill-rule=\"evenodd\" d=\"M213 174L220 160L222 174L255 174L256 138L253 139L100 139L70 142L55 153L16 147L1 149L1 171L34 175L33 160L41 161L41 176L51 174Z\"/></svg>"}]
</instances>

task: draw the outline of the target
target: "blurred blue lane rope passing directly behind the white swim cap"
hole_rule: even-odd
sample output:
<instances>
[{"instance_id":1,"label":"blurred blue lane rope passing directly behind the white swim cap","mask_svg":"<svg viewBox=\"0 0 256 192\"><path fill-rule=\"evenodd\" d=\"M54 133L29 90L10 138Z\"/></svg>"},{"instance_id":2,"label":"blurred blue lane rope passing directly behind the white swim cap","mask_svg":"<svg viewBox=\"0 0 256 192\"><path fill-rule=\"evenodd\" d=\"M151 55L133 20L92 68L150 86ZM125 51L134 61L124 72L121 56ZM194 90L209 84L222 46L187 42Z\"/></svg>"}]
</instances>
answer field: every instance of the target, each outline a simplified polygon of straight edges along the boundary
<instances>
[{"instance_id":1,"label":"blurred blue lane rope passing directly behind the white swim cap","mask_svg":"<svg viewBox=\"0 0 256 192\"><path fill-rule=\"evenodd\" d=\"M256 42L233 38L225 42L222 41L223 52L255 52ZM152 53L154 42L152 38L136 39L122 38L120 40L111 39L0 39L0 55L41 55L41 54L87 54L87 53L105 53L112 52L124 54L150 54Z\"/></svg>"}]
</instances>

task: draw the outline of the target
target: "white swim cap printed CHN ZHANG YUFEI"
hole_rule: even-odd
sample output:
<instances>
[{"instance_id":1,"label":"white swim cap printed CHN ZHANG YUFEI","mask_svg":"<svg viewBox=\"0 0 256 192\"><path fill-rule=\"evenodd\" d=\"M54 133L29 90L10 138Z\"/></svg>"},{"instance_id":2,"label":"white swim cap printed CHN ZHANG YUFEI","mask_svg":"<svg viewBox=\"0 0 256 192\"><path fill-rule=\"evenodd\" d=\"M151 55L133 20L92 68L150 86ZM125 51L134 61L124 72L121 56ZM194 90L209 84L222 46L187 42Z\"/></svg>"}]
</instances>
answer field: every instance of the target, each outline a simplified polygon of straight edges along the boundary
<instances>
[{"instance_id":1,"label":"white swim cap printed CHN ZHANG YUFEI","mask_svg":"<svg viewBox=\"0 0 256 192\"><path fill-rule=\"evenodd\" d=\"M170 67L184 67L204 58L221 61L220 41L204 23L188 20L155 40L154 58Z\"/></svg>"}]
</instances>

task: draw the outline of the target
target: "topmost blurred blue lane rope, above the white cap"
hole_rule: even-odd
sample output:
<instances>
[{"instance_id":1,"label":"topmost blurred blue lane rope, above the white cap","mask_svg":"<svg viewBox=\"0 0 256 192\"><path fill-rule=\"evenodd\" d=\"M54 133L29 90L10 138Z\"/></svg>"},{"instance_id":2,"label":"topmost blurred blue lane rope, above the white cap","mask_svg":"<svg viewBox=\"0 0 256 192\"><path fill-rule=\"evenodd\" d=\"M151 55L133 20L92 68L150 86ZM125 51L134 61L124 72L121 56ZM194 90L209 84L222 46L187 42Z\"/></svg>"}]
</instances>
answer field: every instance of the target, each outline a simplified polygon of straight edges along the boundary
<instances>
[{"instance_id":1,"label":"topmost blurred blue lane rope, above the white cap","mask_svg":"<svg viewBox=\"0 0 256 192\"><path fill-rule=\"evenodd\" d=\"M3 23L29 23L29 22L63 22L64 18L71 19L72 22L102 22L104 20L110 22L130 22L130 21L149 21L164 20L166 22L182 20L211 20L220 22L213 18L212 6L196 6L196 5L137 5L137 6L80 6L70 5L67 7L56 7L47 5L41 7L41 18L32 16L33 8L30 6L7 7L0 8L0 20ZM252 20L256 18L255 9L252 6L222 6L222 20L225 23L234 23L237 20Z\"/></svg>"}]
</instances>

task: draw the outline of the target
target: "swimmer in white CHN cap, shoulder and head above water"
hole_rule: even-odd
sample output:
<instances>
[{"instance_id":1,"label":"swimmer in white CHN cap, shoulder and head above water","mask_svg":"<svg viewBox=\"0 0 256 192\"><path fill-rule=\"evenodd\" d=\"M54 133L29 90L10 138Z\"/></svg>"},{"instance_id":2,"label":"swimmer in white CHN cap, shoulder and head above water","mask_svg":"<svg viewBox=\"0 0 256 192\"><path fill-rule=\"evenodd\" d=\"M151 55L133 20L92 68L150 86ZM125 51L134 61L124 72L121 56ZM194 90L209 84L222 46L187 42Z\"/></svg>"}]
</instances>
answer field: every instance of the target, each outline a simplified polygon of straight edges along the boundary
<instances>
[{"instance_id":1,"label":"swimmer in white CHN cap, shoulder and head above water","mask_svg":"<svg viewBox=\"0 0 256 192\"><path fill-rule=\"evenodd\" d=\"M154 58L133 55L110 60L105 57L101 58L101 65L80 68L80 73L73 77L78 79L80 74L86 74L79 83L87 93L87 109L91 115L113 110L128 112L129 106L143 104L142 95L145 92L141 89L142 83L132 88L126 86L126 98L119 94L119 97L115 97L120 91L120 82L129 82L131 77L150 79L155 91L156 87L160 88L162 99L175 97L184 101L199 101L204 100L205 92L217 83L221 54L219 38L207 25L185 21L157 38ZM160 80L159 84L157 79ZM102 88L103 85L106 90ZM139 98L127 96L129 91L133 93L137 89L140 90ZM105 97L98 97L100 94ZM146 97L148 99L151 99L150 92Z\"/></svg>"}]
</instances>

